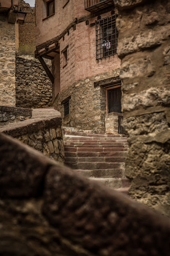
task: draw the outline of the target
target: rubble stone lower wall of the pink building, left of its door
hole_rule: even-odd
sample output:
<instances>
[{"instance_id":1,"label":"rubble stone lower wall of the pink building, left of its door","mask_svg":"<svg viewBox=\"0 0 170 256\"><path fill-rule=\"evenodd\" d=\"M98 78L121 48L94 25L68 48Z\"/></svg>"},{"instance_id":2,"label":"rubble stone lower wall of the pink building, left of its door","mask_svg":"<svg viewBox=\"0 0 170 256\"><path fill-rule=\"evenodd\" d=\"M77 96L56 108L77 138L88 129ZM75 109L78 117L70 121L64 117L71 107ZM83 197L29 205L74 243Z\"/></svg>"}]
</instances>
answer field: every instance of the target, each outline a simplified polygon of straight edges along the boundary
<instances>
[{"instance_id":1,"label":"rubble stone lower wall of the pink building, left of its door","mask_svg":"<svg viewBox=\"0 0 170 256\"><path fill-rule=\"evenodd\" d=\"M105 132L106 89L102 86L94 88L94 82L119 75L119 69L111 70L75 82L57 95L53 102L56 110L61 112L63 126ZM69 100L70 112L64 117L62 101Z\"/></svg>"}]
</instances>

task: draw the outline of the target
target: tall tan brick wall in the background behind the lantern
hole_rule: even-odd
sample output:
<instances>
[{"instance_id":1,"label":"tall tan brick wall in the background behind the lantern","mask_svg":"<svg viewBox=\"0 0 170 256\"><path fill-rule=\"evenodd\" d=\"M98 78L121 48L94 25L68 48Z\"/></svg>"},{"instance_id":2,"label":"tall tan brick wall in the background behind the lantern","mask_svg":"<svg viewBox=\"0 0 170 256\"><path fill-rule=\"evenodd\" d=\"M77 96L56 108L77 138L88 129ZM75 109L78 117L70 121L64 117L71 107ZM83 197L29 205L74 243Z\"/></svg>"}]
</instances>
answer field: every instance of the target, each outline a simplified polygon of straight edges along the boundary
<instances>
[{"instance_id":1,"label":"tall tan brick wall in the background behind the lantern","mask_svg":"<svg viewBox=\"0 0 170 256\"><path fill-rule=\"evenodd\" d=\"M35 15L35 7L30 7L24 0L18 0L18 4L19 9L21 8L23 12L27 12L25 23L23 25L19 24L19 48L27 45L33 52L35 50L35 16L33 16Z\"/></svg>"}]
</instances>

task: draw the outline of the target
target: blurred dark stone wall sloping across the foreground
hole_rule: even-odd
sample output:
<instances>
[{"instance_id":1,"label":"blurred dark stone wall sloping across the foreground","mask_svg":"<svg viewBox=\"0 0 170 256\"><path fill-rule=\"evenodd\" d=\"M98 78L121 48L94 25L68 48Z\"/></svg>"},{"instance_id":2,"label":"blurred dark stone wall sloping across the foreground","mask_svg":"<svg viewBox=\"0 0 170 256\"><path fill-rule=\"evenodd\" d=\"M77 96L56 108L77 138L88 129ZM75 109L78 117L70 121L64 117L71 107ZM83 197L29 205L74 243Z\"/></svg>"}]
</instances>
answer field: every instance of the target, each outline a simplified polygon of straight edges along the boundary
<instances>
[{"instance_id":1,"label":"blurred dark stone wall sloping across the foreground","mask_svg":"<svg viewBox=\"0 0 170 256\"><path fill-rule=\"evenodd\" d=\"M4 256L169 256L170 252L169 218L4 134L0 134L0 218Z\"/></svg>"}]
</instances>

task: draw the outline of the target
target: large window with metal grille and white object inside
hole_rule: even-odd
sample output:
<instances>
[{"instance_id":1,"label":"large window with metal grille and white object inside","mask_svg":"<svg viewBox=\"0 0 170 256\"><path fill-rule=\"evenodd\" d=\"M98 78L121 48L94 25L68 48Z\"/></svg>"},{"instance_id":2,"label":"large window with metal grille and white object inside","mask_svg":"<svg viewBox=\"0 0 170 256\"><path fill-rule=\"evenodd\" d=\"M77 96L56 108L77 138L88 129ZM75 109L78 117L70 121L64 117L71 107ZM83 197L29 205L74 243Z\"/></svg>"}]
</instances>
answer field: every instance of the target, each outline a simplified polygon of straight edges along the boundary
<instances>
[{"instance_id":1,"label":"large window with metal grille and white object inside","mask_svg":"<svg viewBox=\"0 0 170 256\"><path fill-rule=\"evenodd\" d=\"M117 54L117 16L118 14L114 14L96 20L96 60Z\"/></svg>"}]
</instances>

